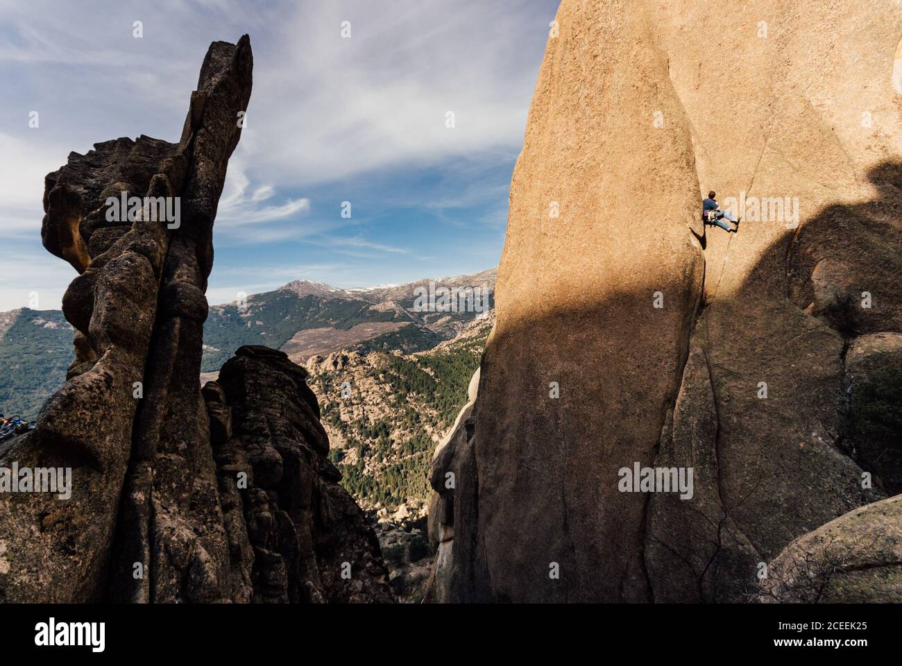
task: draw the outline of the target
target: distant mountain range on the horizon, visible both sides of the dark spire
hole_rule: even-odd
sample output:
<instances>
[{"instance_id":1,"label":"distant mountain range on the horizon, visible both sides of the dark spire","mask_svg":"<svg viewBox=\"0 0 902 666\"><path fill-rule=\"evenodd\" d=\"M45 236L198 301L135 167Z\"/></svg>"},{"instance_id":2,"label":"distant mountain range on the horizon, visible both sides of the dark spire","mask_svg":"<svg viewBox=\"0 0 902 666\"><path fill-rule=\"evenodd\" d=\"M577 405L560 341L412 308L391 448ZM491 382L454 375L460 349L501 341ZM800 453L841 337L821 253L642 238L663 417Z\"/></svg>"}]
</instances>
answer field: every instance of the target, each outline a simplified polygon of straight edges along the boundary
<instances>
[{"instance_id":1,"label":"distant mountain range on the horizon, visible both sides of the dark spire","mask_svg":"<svg viewBox=\"0 0 902 666\"><path fill-rule=\"evenodd\" d=\"M242 301L211 306L204 325L201 378L214 378L242 345L280 348L300 365L311 356L342 349L405 354L431 349L487 314L464 307L472 293L466 290L485 289L491 308L496 275L492 268L360 289L298 280ZM459 297L454 307L443 304L442 289L454 290ZM60 310L0 313L0 412L36 418L52 391L65 383L73 356L72 327Z\"/></svg>"}]
</instances>

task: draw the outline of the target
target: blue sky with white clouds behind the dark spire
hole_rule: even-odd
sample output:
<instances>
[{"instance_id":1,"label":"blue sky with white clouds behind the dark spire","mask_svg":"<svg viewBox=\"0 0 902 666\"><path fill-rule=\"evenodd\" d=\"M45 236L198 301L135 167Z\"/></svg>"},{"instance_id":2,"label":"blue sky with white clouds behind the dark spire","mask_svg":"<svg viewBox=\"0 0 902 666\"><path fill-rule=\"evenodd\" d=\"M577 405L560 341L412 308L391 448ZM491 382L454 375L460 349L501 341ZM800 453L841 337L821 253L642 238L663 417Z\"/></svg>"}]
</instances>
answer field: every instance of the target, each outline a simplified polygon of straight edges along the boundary
<instances>
[{"instance_id":1,"label":"blue sky with white clouds behind the dark spire","mask_svg":"<svg viewBox=\"0 0 902 666\"><path fill-rule=\"evenodd\" d=\"M497 264L556 11L557 0L0 0L0 310L32 292L58 308L74 276L41 246L44 175L118 136L178 141L209 42L244 32L253 96L216 219L211 303L296 279L373 286Z\"/></svg>"}]
</instances>

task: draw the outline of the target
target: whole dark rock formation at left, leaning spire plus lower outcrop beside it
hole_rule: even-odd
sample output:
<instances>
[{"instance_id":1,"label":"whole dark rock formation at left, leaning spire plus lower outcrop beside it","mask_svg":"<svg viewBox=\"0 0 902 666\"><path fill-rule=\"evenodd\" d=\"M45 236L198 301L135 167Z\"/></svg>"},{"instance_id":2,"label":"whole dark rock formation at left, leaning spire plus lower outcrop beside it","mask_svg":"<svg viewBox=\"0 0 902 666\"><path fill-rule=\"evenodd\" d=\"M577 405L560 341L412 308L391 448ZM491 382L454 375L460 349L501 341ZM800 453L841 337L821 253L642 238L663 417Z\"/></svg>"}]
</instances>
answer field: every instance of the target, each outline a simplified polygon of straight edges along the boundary
<instances>
[{"instance_id":1,"label":"whole dark rock formation at left, leaning spire plus lower outcrop beside it","mask_svg":"<svg viewBox=\"0 0 902 666\"><path fill-rule=\"evenodd\" d=\"M208 402L198 387L213 223L252 69L246 35L237 44L214 42L179 143L146 136L97 143L47 176L41 237L79 273L63 298L76 358L36 429L0 467L70 469L71 496L0 495L0 601L391 598L378 574L354 578L379 569L381 556L322 464L328 443L303 371L284 359L261 367L278 374L274 382L294 372L291 390L272 398L287 401L280 413L303 415L290 423L267 420L265 379L235 376L228 390L238 397L226 391L219 402L210 395L215 387ZM141 205L116 214L113 203L124 197ZM216 406L230 398L237 413ZM255 420L272 430L255 428ZM299 475L299 459L315 450L307 471L316 474L277 478L272 466L258 470L256 449L278 452L279 465ZM243 451L253 481L236 489L217 458L244 459ZM320 506L302 514L311 498ZM336 528L343 520L348 525ZM351 564L350 579L336 569L340 558ZM285 580L276 579L279 571Z\"/></svg>"}]
</instances>

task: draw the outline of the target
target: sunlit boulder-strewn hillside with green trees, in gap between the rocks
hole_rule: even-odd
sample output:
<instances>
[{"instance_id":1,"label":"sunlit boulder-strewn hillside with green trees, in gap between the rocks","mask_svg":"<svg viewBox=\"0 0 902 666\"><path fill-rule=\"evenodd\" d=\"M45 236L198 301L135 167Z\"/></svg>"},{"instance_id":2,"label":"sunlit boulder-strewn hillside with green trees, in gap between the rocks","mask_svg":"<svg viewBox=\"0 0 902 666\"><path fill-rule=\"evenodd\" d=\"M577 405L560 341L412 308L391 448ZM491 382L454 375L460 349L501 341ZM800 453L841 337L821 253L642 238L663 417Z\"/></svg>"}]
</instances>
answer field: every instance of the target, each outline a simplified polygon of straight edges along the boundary
<instances>
[{"instance_id":1,"label":"sunlit boulder-strewn hillside with green trees, in gap between the rocks","mask_svg":"<svg viewBox=\"0 0 902 666\"><path fill-rule=\"evenodd\" d=\"M466 402L492 323L474 320L455 338L415 354L364 344L309 359L330 458L365 509L395 520L426 514L432 452Z\"/></svg>"}]
</instances>

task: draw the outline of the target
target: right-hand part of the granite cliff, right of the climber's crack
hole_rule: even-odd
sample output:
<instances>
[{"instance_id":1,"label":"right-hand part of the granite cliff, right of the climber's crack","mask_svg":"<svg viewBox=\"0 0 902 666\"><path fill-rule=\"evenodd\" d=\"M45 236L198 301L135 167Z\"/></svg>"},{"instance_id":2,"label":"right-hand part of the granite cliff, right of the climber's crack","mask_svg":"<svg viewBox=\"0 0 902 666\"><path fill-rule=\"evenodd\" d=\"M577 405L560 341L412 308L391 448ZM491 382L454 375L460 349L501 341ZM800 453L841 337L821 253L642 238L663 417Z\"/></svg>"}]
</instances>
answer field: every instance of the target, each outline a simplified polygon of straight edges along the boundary
<instances>
[{"instance_id":1,"label":"right-hand part of the granite cliff, right of the climber's crack","mask_svg":"<svg viewBox=\"0 0 902 666\"><path fill-rule=\"evenodd\" d=\"M677 5L677 14L691 10ZM899 325L902 125L885 76L898 43L885 17L899 11L883 5L878 15L852 2L817 5L816 14L808 3L715 3L697 29L716 22L730 58L704 42L686 45L682 21L654 23L692 124L702 191L737 199L736 208L747 202L734 211L744 217L739 234L706 237L709 305L696 327L716 428L683 438L716 454L717 474L697 470L695 486L716 491L717 510L692 523L706 546L671 538L656 549L649 534L656 599L673 598L693 576L686 561L699 555L705 587L686 600L748 598L759 562L789 539L884 496L862 484L861 459L843 441L849 338ZM873 307L861 307L869 290ZM695 428L696 417L675 412L672 436Z\"/></svg>"}]
</instances>

